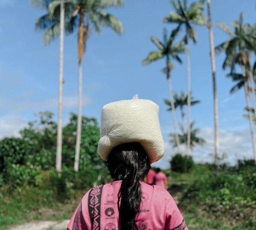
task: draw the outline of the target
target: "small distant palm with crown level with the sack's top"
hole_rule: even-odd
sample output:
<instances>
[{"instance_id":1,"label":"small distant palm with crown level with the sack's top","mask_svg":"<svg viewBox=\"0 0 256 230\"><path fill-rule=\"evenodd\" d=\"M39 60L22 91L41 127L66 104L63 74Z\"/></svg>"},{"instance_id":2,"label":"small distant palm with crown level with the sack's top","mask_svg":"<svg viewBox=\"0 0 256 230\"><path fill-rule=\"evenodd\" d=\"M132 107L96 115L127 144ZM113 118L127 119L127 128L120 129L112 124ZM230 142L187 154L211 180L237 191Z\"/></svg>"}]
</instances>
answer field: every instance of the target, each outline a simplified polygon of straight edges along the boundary
<instances>
[{"instance_id":1,"label":"small distant palm with crown level with the sack's top","mask_svg":"<svg viewBox=\"0 0 256 230\"><path fill-rule=\"evenodd\" d=\"M168 99L165 99L164 102L166 103L166 105L169 106L169 108L167 109L167 111L171 111L172 110L172 104L171 101ZM194 98L191 96L191 105L196 105L200 103L199 100L194 100ZM188 95L185 95L185 93L183 91L180 92L180 95L178 95L176 92L174 93L174 107L176 108L180 108L180 114L181 114L181 126L183 131L185 131L185 112L184 112L184 107L188 105Z\"/></svg>"}]
</instances>

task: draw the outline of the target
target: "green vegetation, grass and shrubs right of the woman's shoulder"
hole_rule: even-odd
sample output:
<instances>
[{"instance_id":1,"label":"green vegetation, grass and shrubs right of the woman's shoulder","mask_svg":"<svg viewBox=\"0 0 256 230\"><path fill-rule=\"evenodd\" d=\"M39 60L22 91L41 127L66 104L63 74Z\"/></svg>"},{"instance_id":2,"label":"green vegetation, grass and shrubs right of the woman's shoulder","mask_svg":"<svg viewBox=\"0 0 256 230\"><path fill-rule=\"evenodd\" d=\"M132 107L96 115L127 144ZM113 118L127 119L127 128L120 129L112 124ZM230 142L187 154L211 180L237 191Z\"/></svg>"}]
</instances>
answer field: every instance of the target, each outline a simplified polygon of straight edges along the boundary
<instances>
[{"instance_id":1,"label":"green vegetation, grass and shrubs right of the woman's shoulder","mask_svg":"<svg viewBox=\"0 0 256 230\"><path fill-rule=\"evenodd\" d=\"M253 160L222 168L196 164L190 173L168 170L169 192L178 201L189 229L254 229L256 166Z\"/></svg>"}]
</instances>

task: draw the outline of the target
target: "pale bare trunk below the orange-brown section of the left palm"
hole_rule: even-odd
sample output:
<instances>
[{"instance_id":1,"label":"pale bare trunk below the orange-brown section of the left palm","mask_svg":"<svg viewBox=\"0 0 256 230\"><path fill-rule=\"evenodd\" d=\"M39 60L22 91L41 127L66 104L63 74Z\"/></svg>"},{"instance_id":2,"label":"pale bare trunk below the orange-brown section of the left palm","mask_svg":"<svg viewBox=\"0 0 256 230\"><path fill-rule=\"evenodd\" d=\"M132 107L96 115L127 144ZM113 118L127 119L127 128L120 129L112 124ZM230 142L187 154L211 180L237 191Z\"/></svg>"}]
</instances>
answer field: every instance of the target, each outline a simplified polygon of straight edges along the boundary
<instances>
[{"instance_id":1,"label":"pale bare trunk below the orange-brown section of the left palm","mask_svg":"<svg viewBox=\"0 0 256 230\"><path fill-rule=\"evenodd\" d=\"M82 63L79 62L78 67L78 116L77 116L77 131L76 131L76 155L74 170L78 172L79 169L79 155L80 155L80 144L81 144L81 128L82 128Z\"/></svg>"}]
</instances>

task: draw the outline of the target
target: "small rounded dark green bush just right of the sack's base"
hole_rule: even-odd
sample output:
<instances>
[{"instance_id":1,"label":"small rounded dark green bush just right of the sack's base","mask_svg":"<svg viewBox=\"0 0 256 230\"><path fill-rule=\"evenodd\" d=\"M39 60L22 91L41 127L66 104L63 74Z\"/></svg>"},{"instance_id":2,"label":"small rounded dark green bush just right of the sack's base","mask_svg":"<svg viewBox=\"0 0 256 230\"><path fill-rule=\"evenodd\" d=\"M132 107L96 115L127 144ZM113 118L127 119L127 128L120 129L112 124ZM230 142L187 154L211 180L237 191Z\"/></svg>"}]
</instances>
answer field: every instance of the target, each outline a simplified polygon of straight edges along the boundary
<instances>
[{"instance_id":1,"label":"small rounded dark green bush just right of the sack's base","mask_svg":"<svg viewBox=\"0 0 256 230\"><path fill-rule=\"evenodd\" d=\"M180 153L177 153L172 157L171 170L178 173L187 173L192 170L194 161L192 156L183 156Z\"/></svg>"}]
</instances>

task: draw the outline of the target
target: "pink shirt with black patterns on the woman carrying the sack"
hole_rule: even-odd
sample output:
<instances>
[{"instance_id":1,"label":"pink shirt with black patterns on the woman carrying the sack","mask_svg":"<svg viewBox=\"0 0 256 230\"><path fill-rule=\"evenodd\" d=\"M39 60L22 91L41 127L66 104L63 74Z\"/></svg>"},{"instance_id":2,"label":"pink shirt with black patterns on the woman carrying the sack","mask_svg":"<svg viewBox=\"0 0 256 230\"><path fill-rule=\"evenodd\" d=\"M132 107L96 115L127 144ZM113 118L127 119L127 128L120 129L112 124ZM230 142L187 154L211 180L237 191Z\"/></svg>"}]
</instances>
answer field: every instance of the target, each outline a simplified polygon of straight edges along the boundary
<instances>
[{"instance_id":1,"label":"pink shirt with black patterns on the woman carrying the sack","mask_svg":"<svg viewBox=\"0 0 256 230\"><path fill-rule=\"evenodd\" d=\"M113 181L88 191L76 208L67 230L120 230L117 199L121 182ZM188 230L175 201L165 189L140 183L142 200L136 218L138 229Z\"/></svg>"}]
</instances>

